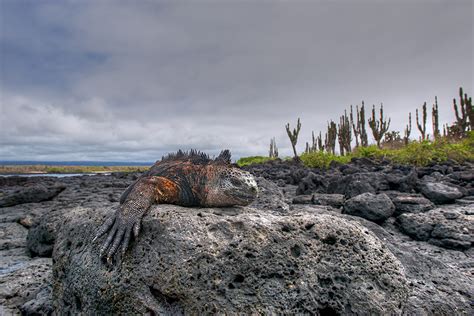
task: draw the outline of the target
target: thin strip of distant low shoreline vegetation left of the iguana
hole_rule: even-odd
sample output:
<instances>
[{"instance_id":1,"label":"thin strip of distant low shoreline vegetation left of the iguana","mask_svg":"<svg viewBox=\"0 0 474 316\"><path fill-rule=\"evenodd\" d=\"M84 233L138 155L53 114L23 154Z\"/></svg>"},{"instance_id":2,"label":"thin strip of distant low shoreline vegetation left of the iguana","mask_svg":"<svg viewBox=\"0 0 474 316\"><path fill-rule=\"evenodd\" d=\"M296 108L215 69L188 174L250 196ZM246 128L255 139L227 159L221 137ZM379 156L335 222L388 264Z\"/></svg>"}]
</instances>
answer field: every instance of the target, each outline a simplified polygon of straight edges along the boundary
<instances>
[{"instance_id":1,"label":"thin strip of distant low shoreline vegetation left of the iguana","mask_svg":"<svg viewBox=\"0 0 474 316\"><path fill-rule=\"evenodd\" d=\"M147 166L0 165L0 174L142 172Z\"/></svg>"}]
</instances>

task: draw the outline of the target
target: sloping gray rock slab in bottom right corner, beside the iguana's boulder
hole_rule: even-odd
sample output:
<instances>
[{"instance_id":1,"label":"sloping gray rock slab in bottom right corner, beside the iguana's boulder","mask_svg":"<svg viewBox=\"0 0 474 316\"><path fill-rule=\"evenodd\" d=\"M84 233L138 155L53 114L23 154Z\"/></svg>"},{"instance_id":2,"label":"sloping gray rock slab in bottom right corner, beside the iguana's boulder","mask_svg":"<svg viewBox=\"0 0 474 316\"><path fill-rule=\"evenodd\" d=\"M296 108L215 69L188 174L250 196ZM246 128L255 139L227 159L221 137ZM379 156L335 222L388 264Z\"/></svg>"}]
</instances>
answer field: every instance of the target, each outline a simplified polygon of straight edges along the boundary
<instances>
[{"instance_id":1,"label":"sloping gray rock slab in bottom right corner, beside the iguana's boulder","mask_svg":"<svg viewBox=\"0 0 474 316\"><path fill-rule=\"evenodd\" d=\"M474 315L474 248L463 252L412 240L393 226L393 217L382 226L347 217L376 234L403 264L411 290L403 315Z\"/></svg>"}]
</instances>

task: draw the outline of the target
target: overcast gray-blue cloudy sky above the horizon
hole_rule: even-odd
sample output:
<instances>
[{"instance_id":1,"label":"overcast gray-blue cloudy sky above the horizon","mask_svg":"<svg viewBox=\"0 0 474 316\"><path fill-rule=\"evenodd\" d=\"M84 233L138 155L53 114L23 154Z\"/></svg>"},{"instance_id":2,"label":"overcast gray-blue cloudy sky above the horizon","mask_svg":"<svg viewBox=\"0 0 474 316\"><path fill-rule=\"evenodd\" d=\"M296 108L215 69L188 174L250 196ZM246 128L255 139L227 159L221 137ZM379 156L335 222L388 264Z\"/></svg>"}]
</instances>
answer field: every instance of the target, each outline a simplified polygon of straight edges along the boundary
<instances>
[{"instance_id":1,"label":"overcast gray-blue cloudy sky above the horizon","mask_svg":"<svg viewBox=\"0 0 474 316\"><path fill-rule=\"evenodd\" d=\"M473 4L0 0L0 160L266 155L351 104L392 128L473 93ZM428 124L430 124L430 121ZM414 128L416 129L416 128Z\"/></svg>"}]
</instances>

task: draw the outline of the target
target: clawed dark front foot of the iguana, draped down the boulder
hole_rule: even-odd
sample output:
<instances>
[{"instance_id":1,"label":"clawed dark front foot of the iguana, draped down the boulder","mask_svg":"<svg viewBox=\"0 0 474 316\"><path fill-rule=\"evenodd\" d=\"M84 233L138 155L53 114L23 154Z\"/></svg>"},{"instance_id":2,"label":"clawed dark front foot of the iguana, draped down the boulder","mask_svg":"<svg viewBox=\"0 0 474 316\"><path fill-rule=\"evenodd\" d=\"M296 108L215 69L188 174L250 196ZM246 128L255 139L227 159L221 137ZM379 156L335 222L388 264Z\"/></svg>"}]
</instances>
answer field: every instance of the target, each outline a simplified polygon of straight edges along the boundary
<instances>
[{"instance_id":1,"label":"clawed dark front foot of the iguana, draped down the boulder","mask_svg":"<svg viewBox=\"0 0 474 316\"><path fill-rule=\"evenodd\" d=\"M115 215L109 217L97 230L93 242L102 235L107 234L107 238L100 247L100 257L107 257L107 262L111 262L117 250L121 249L122 257L127 251L132 233L135 239L140 232L141 218L126 216L123 207L120 207Z\"/></svg>"}]
</instances>

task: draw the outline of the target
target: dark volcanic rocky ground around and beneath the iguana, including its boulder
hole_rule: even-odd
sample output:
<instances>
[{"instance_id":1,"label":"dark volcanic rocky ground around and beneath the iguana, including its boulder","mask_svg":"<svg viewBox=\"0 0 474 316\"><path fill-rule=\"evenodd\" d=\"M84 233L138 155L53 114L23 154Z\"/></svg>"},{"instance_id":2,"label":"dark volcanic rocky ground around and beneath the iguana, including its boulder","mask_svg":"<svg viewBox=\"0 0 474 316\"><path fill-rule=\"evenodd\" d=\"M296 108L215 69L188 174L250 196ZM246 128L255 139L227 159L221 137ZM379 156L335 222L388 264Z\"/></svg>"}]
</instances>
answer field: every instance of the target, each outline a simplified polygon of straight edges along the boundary
<instances>
[{"instance_id":1,"label":"dark volcanic rocky ground around and beneath the iguana, including its boulder","mask_svg":"<svg viewBox=\"0 0 474 316\"><path fill-rule=\"evenodd\" d=\"M108 266L91 235L138 176L0 177L0 314L474 314L474 165L246 167L249 207L154 207Z\"/></svg>"}]
</instances>

